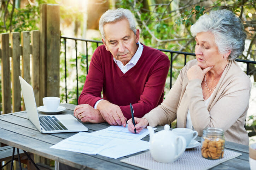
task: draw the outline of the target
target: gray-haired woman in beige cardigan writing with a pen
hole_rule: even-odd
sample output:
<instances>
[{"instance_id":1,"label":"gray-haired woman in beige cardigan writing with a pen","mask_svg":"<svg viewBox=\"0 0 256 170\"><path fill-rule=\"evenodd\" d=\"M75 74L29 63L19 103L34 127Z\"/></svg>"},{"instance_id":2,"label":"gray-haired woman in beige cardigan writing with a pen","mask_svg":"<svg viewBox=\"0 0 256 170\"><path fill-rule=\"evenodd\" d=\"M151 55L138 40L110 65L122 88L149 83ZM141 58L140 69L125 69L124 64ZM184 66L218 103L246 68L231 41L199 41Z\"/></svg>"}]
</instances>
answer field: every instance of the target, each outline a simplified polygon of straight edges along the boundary
<instances>
[{"instance_id":1,"label":"gray-haired woman in beige cardigan writing with a pen","mask_svg":"<svg viewBox=\"0 0 256 170\"><path fill-rule=\"evenodd\" d=\"M248 145L244 125L251 81L234 61L244 51L241 20L228 10L211 11L191 26L191 32L196 59L180 71L161 105L135 118L136 131L177 119L177 127L194 129L199 136L204 128L217 127L224 130L227 141ZM134 133L132 120L128 129Z\"/></svg>"}]
</instances>

